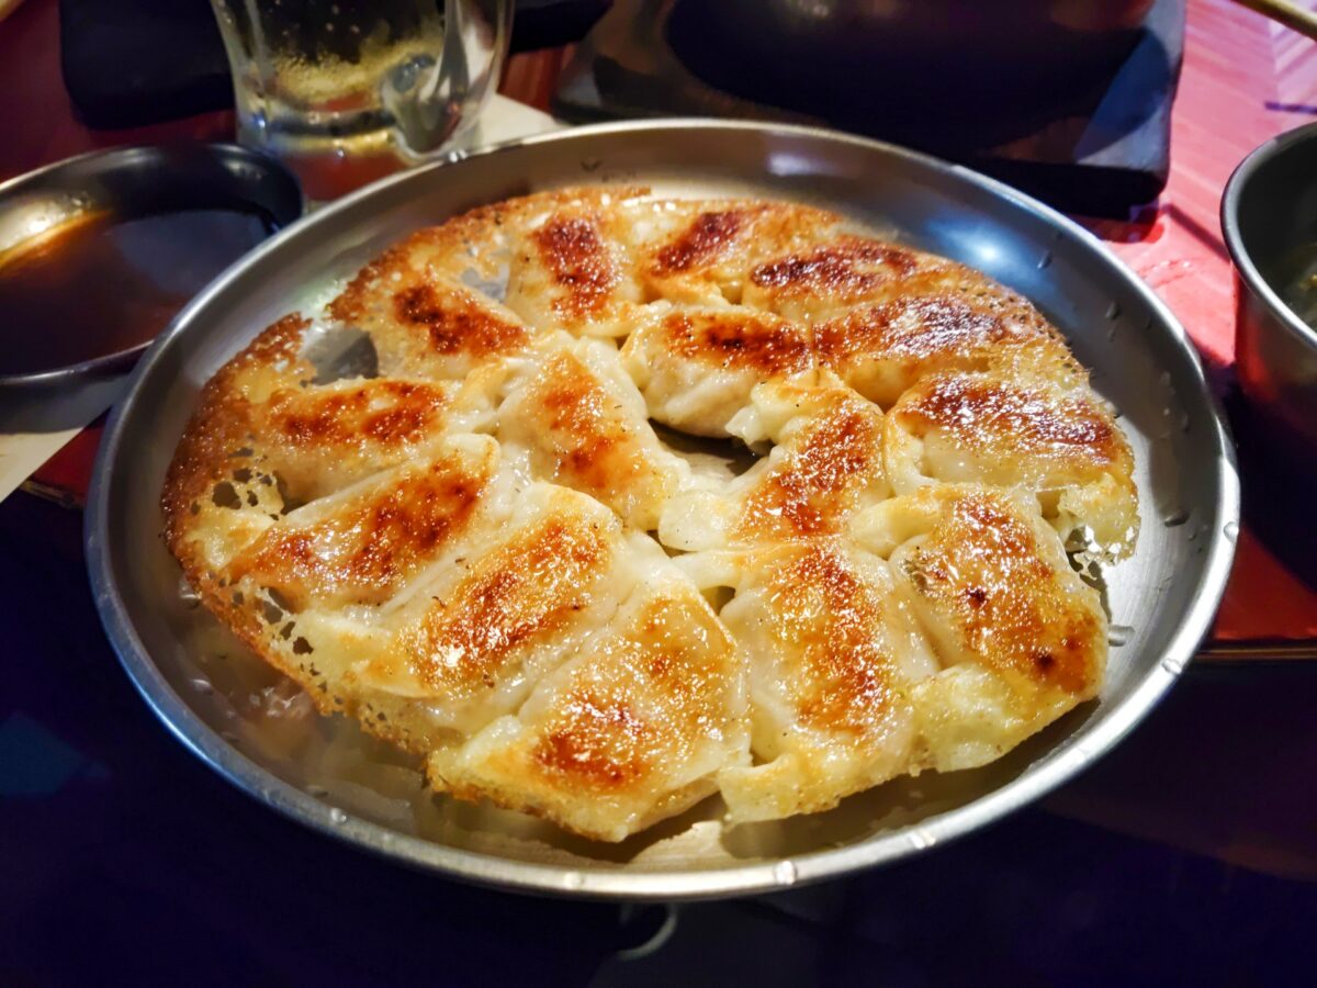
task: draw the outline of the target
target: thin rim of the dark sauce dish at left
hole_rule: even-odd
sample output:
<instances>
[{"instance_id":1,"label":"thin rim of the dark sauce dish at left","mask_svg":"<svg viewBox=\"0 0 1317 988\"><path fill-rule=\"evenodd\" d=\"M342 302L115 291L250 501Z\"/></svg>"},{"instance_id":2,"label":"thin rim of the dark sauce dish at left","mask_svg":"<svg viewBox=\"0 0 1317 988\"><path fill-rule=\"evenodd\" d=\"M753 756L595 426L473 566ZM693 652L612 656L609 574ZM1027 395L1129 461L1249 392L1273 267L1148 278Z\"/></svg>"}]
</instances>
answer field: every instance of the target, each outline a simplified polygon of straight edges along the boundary
<instances>
[{"instance_id":1,"label":"thin rim of the dark sauce dish at left","mask_svg":"<svg viewBox=\"0 0 1317 988\"><path fill-rule=\"evenodd\" d=\"M50 175L58 174L65 170L72 170L76 166L86 165L90 161L104 161L113 166L120 163L121 159L130 159L148 155L159 154L162 151L171 150L187 150L190 154L196 154L199 151L205 151L216 158L241 158L242 161L254 165L255 167L263 169L271 175L278 175L281 179L287 180L294 190L298 192L299 202L302 203L298 209L296 216L291 216L287 220L282 217L275 217L279 223L279 231L282 232L286 227L291 227L299 219L306 215L306 200L302 196L302 183L298 182L298 177L288 170L288 167L281 162L278 158L273 158L269 154L261 154L259 151L253 151L250 148L244 148L240 144L233 144L229 141L209 141L204 144L186 144L186 142L163 142L163 144L138 144L126 148L107 148L100 150L86 151L83 154L75 154L71 158L63 158L62 161L51 162L50 165L42 165L40 169L32 171L25 171L21 175L14 175L4 182L0 182L0 199L9 195L11 192L20 191L22 186L29 183L40 182L41 179L49 178ZM182 310L178 315L182 315ZM157 336L163 336L162 329ZM58 368L50 368L49 370L30 370L22 374L0 374L0 390L4 389L29 389L29 387L46 387L46 386L59 386L66 383L72 383L83 379L94 379L99 377L109 377L116 371L128 368L133 358L151 345L153 340L145 340L134 346L128 346L122 350L116 350L115 353L107 353L101 357L92 357L91 360L79 361L78 364L65 364Z\"/></svg>"}]
</instances>

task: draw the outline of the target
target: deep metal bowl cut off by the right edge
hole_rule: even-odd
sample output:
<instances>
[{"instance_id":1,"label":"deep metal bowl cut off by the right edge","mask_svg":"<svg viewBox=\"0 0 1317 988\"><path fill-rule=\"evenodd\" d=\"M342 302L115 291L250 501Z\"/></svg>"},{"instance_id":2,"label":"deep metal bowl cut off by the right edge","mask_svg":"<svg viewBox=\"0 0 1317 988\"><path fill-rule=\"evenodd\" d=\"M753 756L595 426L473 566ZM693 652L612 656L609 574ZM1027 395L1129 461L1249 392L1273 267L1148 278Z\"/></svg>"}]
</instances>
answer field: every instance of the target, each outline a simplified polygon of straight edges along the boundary
<instances>
[{"instance_id":1,"label":"deep metal bowl cut off by the right edge","mask_svg":"<svg viewBox=\"0 0 1317 988\"><path fill-rule=\"evenodd\" d=\"M1292 460L1317 451L1317 331L1281 298L1296 252L1317 258L1317 124L1272 138L1243 159L1221 199L1234 260L1235 366L1260 441Z\"/></svg>"}]
</instances>

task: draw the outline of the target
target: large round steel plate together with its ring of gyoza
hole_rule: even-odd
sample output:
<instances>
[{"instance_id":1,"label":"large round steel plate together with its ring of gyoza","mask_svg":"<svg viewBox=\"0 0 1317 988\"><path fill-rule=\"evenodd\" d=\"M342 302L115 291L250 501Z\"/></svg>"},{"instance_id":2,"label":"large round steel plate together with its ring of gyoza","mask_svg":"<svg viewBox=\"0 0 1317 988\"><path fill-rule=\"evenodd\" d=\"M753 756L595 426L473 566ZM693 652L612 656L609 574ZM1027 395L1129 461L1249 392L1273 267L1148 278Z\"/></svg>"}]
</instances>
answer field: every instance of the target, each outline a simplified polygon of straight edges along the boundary
<instances>
[{"instance_id":1,"label":"large round steel plate together with its ring of gyoza","mask_svg":"<svg viewBox=\"0 0 1317 988\"><path fill-rule=\"evenodd\" d=\"M784 125L453 157L229 269L107 429L107 631L238 786L477 881L770 891L1039 797L1189 661L1233 454L1073 223Z\"/></svg>"}]
</instances>

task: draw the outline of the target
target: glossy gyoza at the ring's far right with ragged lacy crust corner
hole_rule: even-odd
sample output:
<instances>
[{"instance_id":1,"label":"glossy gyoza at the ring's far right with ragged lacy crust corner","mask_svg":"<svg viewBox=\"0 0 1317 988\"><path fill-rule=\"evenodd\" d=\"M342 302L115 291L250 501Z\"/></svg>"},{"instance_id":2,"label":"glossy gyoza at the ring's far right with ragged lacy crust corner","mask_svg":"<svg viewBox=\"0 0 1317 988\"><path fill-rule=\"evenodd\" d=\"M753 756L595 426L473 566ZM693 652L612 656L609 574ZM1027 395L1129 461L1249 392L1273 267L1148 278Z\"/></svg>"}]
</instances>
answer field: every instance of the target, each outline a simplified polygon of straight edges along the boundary
<instances>
[{"instance_id":1,"label":"glossy gyoza at the ring's far right with ragged lacy crust corner","mask_svg":"<svg viewBox=\"0 0 1317 988\"><path fill-rule=\"evenodd\" d=\"M1021 487L1063 537L1088 527L1084 541L1112 559L1134 549L1134 457L1088 389L994 374L925 378L888 412L884 457L897 493L934 481Z\"/></svg>"}]
</instances>

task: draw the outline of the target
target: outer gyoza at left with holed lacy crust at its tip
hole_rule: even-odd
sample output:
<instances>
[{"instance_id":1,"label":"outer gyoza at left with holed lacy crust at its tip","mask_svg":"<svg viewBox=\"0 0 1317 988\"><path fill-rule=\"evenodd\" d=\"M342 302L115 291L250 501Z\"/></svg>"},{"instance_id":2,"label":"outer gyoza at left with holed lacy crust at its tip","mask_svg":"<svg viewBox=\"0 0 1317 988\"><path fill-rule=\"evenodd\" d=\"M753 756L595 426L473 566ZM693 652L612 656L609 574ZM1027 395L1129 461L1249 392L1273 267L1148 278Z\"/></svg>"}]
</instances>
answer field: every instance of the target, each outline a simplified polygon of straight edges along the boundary
<instances>
[{"instance_id":1,"label":"outer gyoza at left with holed lacy crust at its tip","mask_svg":"<svg viewBox=\"0 0 1317 988\"><path fill-rule=\"evenodd\" d=\"M252 476L244 489L275 501L242 497L215 506L213 518L191 515L175 552L207 606L320 709L356 711L356 669L387 649L399 601L503 530L512 491L497 470L493 439L454 436L428 461L287 514L277 487Z\"/></svg>"}]
</instances>

